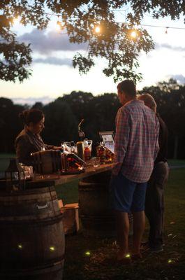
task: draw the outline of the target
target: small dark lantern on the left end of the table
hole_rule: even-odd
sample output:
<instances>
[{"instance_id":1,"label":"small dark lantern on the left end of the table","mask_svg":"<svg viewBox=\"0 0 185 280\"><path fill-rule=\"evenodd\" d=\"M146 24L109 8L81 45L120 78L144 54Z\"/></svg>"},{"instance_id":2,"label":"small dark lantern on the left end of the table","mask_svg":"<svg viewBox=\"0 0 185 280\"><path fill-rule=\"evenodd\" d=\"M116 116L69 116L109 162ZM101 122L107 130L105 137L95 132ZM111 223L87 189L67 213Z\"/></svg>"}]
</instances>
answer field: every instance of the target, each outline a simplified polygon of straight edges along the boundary
<instances>
[{"instance_id":1,"label":"small dark lantern on the left end of the table","mask_svg":"<svg viewBox=\"0 0 185 280\"><path fill-rule=\"evenodd\" d=\"M6 190L23 190L25 188L24 169L17 158L10 158L10 164L5 171Z\"/></svg>"}]
</instances>

